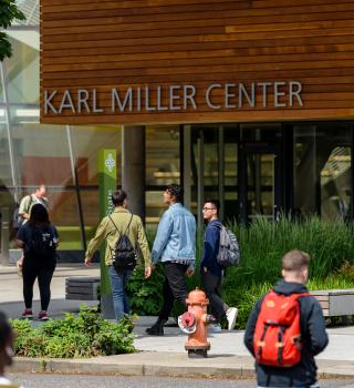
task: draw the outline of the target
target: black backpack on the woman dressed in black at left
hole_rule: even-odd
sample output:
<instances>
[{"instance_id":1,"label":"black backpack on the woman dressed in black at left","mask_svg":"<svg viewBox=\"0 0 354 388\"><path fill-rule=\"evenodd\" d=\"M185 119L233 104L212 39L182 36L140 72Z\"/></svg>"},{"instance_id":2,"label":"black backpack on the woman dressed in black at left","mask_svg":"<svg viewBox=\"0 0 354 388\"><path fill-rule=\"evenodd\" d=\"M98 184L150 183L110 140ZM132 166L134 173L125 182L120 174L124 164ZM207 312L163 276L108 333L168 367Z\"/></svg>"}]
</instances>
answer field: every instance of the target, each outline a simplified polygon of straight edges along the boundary
<instances>
[{"instance_id":1,"label":"black backpack on the woman dressed in black at left","mask_svg":"<svg viewBox=\"0 0 354 388\"><path fill-rule=\"evenodd\" d=\"M58 238L50 226L32 227L30 253L35 257L54 257Z\"/></svg>"}]
</instances>

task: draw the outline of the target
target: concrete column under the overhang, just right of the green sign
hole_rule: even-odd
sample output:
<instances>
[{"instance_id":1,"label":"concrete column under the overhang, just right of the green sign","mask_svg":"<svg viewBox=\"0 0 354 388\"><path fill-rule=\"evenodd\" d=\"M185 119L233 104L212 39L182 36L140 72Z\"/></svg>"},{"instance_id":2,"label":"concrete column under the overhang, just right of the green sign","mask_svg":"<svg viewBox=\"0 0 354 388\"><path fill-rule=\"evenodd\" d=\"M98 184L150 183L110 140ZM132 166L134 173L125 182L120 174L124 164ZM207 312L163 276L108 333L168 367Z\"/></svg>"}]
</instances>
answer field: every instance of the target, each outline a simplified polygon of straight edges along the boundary
<instances>
[{"instance_id":1,"label":"concrete column under the overhang, just right of the green sign","mask_svg":"<svg viewBox=\"0 0 354 388\"><path fill-rule=\"evenodd\" d=\"M145 126L124 126L122 135L122 188L129 211L145 219Z\"/></svg>"}]
</instances>

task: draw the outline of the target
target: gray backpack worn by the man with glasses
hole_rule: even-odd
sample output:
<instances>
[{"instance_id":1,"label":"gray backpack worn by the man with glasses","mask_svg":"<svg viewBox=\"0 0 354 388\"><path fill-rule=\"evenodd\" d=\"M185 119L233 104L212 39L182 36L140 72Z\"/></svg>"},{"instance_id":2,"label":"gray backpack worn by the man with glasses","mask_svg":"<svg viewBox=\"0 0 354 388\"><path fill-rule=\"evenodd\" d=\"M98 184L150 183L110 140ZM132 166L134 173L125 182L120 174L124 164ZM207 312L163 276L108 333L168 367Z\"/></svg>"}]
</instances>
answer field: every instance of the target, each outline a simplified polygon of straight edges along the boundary
<instances>
[{"instance_id":1,"label":"gray backpack worn by the man with glasses","mask_svg":"<svg viewBox=\"0 0 354 388\"><path fill-rule=\"evenodd\" d=\"M221 226L220 245L217 262L222 267L239 265L241 258L239 243L236 235L227 227Z\"/></svg>"}]
</instances>

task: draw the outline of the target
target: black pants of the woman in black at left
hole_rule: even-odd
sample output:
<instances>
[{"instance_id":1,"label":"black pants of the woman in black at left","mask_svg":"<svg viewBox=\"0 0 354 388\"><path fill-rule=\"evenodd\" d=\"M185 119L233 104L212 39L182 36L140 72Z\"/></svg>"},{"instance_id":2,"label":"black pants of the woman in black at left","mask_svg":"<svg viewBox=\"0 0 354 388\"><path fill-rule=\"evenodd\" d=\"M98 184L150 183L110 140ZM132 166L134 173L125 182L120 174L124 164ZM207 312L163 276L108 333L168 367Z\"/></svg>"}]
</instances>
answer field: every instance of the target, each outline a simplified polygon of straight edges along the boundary
<instances>
[{"instance_id":1,"label":"black pants of the woman in black at left","mask_svg":"<svg viewBox=\"0 0 354 388\"><path fill-rule=\"evenodd\" d=\"M38 285L41 296L41 308L46 310L51 300L51 280L55 269L55 262L31 263L24 258L22 276L23 276L23 298L25 308L32 308L33 285L38 278Z\"/></svg>"}]
</instances>

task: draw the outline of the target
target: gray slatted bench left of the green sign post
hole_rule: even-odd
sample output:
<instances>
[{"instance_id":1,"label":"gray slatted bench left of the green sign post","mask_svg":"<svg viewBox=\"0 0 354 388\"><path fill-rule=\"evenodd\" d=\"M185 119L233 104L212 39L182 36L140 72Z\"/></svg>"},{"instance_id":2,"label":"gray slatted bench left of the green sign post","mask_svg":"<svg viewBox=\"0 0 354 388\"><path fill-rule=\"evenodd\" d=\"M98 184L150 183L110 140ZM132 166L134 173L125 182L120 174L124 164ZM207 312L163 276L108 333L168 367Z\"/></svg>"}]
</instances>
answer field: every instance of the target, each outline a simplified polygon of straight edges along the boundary
<instances>
[{"instance_id":1,"label":"gray slatted bench left of the green sign post","mask_svg":"<svg viewBox=\"0 0 354 388\"><path fill-rule=\"evenodd\" d=\"M71 276L65 278L65 299L97 300L100 276Z\"/></svg>"}]
</instances>

